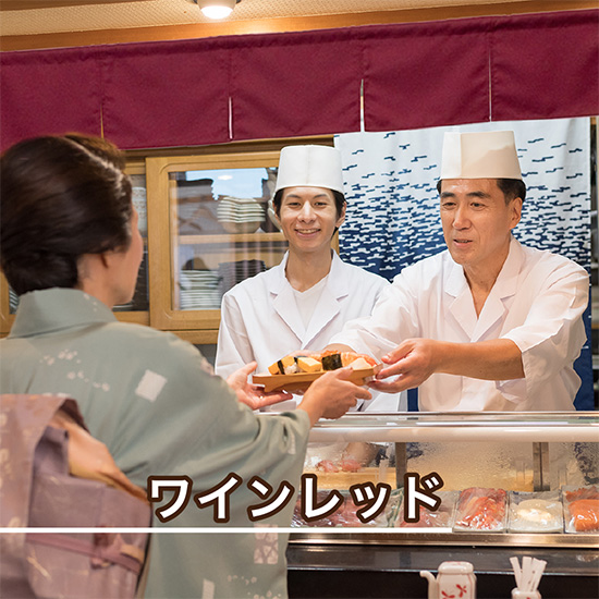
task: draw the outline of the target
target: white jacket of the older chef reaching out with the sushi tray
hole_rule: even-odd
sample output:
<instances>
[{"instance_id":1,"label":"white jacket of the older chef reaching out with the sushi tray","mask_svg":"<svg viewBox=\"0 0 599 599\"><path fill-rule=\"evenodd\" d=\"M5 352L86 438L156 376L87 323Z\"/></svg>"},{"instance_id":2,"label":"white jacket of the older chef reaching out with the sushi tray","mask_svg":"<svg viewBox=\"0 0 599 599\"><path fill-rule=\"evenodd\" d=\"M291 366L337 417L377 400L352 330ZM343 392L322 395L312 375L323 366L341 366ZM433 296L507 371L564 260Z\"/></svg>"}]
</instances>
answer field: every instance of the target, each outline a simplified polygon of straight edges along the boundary
<instances>
[{"instance_id":1,"label":"white jacket of the older chef reaching out with the sushi tray","mask_svg":"<svg viewBox=\"0 0 599 599\"><path fill-rule=\"evenodd\" d=\"M574 409L580 379L573 362L586 341L586 270L562 256L524 247L514 237L477 317L463 268L448 250L405 268L370 318L349 322L331 343L380 358L411 338L468 343L511 339L524 379L485 381L436 374L418 388L425 411Z\"/></svg>"}]
</instances>

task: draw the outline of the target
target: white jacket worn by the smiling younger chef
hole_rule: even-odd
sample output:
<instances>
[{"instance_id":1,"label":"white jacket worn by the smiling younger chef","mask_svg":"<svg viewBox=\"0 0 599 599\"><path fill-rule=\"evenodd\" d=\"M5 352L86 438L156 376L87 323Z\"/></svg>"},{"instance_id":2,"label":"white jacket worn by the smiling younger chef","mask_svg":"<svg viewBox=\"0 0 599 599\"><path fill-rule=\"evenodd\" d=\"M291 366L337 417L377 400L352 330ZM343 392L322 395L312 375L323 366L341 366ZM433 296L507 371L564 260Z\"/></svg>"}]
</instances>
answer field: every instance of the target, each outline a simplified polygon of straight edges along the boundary
<instances>
[{"instance_id":1,"label":"white jacket worn by the smiling younger chef","mask_svg":"<svg viewBox=\"0 0 599 599\"><path fill-rule=\"evenodd\" d=\"M257 372L297 350L320 351L351 319L369 315L390 283L362 268L349 265L333 252L331 270L318 306L307 327L285 277L285 254L280 265L242 281L222 298L216 371L223 378L252 360ZM398 412L407 408L405 393L374 393L362 411ZM293 401L295 405L295 401ZM281 411L291 402L272 406Z\"/></svg>"}]
</instances>

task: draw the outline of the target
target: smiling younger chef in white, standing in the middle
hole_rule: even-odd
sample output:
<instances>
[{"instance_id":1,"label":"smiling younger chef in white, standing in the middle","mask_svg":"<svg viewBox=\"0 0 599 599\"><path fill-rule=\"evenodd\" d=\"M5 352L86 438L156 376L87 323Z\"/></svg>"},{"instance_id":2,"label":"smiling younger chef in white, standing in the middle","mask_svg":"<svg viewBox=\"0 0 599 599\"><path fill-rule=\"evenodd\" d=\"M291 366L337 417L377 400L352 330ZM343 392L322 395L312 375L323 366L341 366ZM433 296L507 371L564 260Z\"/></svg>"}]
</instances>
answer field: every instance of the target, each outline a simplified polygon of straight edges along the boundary
<instances>
[{"instance_id":1,"label":"smiling younger chef in white, standing in the middle","mask_svg":"<svg viewBox=\"0 0 599 599\"><path fill-rule=\"evenodd\" d=\"M341 155L330 146L281 150L273 208L289 242L282 262L223 297L216 371L256 362L258 372L298 350L318 350L353 318L367 316L389 282L341 260L331 239L345 218ZM365 409L400 408L378 394ZM278 404L289 408L290 402Z\"/></svg>"}]
</instances>

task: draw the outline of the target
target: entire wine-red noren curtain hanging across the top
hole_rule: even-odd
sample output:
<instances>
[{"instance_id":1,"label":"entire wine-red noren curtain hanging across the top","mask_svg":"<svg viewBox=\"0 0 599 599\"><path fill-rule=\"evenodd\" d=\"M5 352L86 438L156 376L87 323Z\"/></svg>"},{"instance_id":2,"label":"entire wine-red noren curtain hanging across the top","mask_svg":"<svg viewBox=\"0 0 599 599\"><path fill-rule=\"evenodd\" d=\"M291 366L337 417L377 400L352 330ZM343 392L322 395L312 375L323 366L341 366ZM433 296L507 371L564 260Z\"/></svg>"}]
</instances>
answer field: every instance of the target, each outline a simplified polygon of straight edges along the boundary
<instances>
[{"instance_id":1,"label":"entire wine-red noren curtain hanging across the top","mask_svg":"<svg viewBox=\"0 0 599 599\"><path fill-rule=\"evenodd\" d=\"M0 144L123 148L599 113L599 10L0 53Z\"/></svg>"}]
</instances>

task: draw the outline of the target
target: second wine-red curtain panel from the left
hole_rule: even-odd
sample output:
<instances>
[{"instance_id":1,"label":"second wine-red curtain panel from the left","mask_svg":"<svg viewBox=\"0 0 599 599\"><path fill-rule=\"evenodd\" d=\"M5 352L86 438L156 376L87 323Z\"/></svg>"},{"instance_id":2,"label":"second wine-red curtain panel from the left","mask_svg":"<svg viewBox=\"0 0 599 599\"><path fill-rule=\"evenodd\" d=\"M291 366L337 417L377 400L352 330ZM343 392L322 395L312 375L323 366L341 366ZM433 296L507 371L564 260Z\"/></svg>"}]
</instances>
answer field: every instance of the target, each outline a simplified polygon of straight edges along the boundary
<instances>
[{"instance_id":1,"label":"second wine-red curtain panel from the left","mask_svg":"<svg viewBox=\"0 0 599 599\"><path fill-rule=\"evenodd\" d=\"M213 40L103 52L103 132L122 148L229 142L228 51Z\"/></svg>"}]
</instances>

